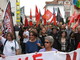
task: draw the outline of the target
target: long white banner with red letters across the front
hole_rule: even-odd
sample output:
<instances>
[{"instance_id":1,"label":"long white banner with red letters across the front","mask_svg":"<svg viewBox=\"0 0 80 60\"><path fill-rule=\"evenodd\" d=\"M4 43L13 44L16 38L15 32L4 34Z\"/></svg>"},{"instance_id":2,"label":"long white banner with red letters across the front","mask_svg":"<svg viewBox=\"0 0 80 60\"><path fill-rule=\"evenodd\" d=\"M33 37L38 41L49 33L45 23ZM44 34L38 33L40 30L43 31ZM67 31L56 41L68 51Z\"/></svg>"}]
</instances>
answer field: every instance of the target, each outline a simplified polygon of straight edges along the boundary
<instances>
[{"instance_id":1,"label":"long white banner with red letters across the front","mask_svg":"<svg viewBox=\"0 0 80 60\"><path fill-rule=\"evenodd\" d=\"M0 60L80 60L80 49L75 51L64 52L37 52L24 55L9 56L6 58L0 58Z\"/></svg>"}]
</instances>

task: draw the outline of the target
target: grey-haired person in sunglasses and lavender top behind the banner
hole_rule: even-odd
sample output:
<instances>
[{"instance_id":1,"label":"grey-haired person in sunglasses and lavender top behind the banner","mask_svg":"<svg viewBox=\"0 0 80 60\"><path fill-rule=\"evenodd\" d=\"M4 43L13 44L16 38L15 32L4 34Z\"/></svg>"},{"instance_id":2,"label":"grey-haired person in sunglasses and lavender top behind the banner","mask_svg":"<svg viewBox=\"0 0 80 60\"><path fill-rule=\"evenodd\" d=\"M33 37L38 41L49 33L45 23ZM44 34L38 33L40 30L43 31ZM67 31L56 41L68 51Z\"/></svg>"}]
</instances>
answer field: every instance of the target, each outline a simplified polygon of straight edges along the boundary
<instances>
[{"instance_id":1,"label":"grey-haired person in sunglasses and lavender top behind the banner","mask_svg":"<svg viewBox=\"0 0 80 60\"><path fill-rule=\"evenodd\" d=\"M43 49L40 49L39 52L45 52L45 51L58 51L57 49L53 48L54 39L52 36L46 36L45 37L45 47Z\"/></svg>"}]
</instances>

